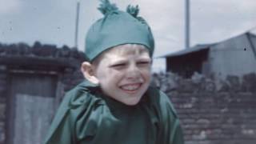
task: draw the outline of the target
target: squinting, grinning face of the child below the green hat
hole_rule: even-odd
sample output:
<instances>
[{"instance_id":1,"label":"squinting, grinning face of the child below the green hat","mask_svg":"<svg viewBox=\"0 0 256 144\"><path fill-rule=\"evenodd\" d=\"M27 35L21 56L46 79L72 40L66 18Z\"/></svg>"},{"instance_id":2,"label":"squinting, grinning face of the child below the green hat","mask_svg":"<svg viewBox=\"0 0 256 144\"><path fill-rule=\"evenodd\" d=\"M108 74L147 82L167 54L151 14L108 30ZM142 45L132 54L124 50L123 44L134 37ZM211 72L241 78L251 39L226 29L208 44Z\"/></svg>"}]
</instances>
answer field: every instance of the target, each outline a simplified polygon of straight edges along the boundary
<instances>
[{"instance_id":1,"label":"squinting, grinning face of the child below the green hat","mask_svg":"<svg viewBox=\"0 0 256 144\"><path fill-rule=\"evenodd\" d=\"M126 105L136 105L150 85L150 69L148 50L126 44L102 54L94 75L106 95Z\"/></svg>"}]
</instances>

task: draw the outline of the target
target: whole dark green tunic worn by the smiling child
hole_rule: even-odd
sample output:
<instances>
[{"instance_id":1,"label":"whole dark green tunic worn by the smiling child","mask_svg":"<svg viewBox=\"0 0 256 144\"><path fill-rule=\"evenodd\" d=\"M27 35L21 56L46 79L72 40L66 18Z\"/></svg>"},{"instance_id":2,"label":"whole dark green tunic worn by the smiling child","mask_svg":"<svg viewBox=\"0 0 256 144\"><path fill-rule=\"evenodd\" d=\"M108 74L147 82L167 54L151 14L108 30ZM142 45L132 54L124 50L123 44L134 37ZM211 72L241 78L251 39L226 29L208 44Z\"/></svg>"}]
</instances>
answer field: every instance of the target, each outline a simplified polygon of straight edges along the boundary
<instances>
[{"instance_id":1,"label":"whole dark green tunic worn by the smiling child","mask_svg":"<svg viewBox=\"0 0 256 144\"><path fill-rule=\"evenodd\" d=\"M136 106L126 106L82 82L62 101L46 144L183 144L174 107L150 87Z\"/></svg>"}]
</instances>

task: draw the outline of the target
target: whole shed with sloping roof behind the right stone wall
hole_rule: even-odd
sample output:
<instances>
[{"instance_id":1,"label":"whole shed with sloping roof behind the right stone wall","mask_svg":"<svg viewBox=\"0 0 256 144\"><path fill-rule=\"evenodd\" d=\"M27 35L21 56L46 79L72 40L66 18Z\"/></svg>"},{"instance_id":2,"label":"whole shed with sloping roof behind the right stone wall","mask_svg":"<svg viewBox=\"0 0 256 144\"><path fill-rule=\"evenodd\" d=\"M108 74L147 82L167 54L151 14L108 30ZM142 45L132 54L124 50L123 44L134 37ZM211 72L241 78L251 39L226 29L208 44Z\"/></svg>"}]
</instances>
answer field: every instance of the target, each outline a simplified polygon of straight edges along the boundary
<instances>
[{"instance_id":1,"label":"whole shed with sloping roof behind the right stone wall","mask_svg":"<svg viewBox=\"0 0 256 144\"><path fill-rule=\"evenodd\" d=\"M202 55L203 51L207 53ZM203 58L198 58L198 56ZM225 78L227 75L242 76L256 73L256 30L228 38L222 42L196 45L173 54L166 54L162 58L166 58L166 70L178 74L184 73L184 71L189 75L193 74L195 72L193 66L200 66L196 69L199 73L214 74L221 78ZM194 61L191 58L201 59L202 62ZM184 59L186 62L183 62Z\"/></svg>"}]
</instances>

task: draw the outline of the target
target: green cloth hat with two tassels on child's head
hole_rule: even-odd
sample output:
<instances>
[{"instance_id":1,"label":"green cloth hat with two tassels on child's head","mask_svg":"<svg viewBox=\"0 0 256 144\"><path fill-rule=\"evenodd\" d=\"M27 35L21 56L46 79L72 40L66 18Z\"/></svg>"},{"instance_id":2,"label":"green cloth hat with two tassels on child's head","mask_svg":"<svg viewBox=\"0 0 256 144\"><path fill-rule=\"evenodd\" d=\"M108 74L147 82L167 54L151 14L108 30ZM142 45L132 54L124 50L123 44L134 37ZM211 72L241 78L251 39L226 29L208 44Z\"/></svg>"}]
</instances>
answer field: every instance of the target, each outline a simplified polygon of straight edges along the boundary
<instances>
[{"instance_id":1,"label":"green cloth hat with two tassels on child's head","mask_svg":"<svg viewBox=\"0 0 256 144\"><path fill-rule=\"evenodd\" d=\"M128 6L127 12L118 10L108 0L102 0L98 8L104 14L86 35L86 57L90 62L103 51L123 44L141 44L154 52L154 38L146 21L137 17L138 6Z\"/></svg>"}]
</instances>

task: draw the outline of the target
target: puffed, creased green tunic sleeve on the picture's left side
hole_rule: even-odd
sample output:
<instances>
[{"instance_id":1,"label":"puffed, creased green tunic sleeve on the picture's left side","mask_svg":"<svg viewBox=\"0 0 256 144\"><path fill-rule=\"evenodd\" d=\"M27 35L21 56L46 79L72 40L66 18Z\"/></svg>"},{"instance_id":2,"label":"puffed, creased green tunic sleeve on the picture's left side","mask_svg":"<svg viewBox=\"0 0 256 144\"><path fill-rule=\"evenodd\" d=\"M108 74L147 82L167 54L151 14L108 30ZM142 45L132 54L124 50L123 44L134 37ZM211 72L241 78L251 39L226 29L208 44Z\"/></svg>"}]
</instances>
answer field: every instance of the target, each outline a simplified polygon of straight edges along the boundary
<instances>
[{"instance_id":1,"label":"puffed, creased green tunic sleeve on the picture's left side","mask_svg":"<svg viewBox=\"0 0 256 144\"><path fill-rule=\"evenodd\" d=\"M44 144L77 144L94 135L98 117L106 111L102 110L101 100L90 94L86 86L88 84L82 82L65 95Z\"/></svg>"}]
</instances>

